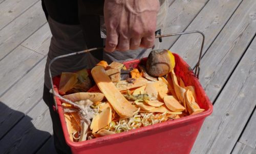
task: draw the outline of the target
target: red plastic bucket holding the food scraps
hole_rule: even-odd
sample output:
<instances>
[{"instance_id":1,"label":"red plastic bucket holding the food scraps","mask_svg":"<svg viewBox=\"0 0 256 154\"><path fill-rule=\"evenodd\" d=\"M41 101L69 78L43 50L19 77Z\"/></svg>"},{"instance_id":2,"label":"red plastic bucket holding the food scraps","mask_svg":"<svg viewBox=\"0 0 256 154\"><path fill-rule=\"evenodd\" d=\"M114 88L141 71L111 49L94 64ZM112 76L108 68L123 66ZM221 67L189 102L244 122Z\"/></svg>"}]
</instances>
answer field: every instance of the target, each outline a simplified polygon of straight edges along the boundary
<instances>
[{"instance_id":1,"label":"red plastic bucket holding the food scraps","mask_svg":"<svg viewBox=\"0 0 256 154\"><path fill-rule=\"evenodd\" d=\"M67 144L73 153L189 153L197 138L204 119L212 113L212 104L190 67L175 54L175 73L185 85L195 86L198 105L205 111L188 115L173 121L141 127L127 132L116 133L83 142L73 142L69 138L60 100L56 97L58 114ZM123 63L126 67L137 67L143 60ZM53 79L57 92L59 77Z\"/></svg>"}]
</instances>

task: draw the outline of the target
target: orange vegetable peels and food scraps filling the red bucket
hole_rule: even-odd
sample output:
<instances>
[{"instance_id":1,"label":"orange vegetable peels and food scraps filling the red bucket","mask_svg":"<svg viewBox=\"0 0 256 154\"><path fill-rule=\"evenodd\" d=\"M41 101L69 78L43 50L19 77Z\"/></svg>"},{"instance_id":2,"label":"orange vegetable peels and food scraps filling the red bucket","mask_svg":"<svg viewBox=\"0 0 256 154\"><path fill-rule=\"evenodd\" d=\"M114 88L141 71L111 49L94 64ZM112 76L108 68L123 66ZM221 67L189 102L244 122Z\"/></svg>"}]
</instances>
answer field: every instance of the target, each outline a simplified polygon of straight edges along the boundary
<instances>
[{"instance_id":1,"label":"orange vegetable peels and food scraps filling the red bucket","mask_svg":"<svg viewBox=\"0 0 256 154\"><path fill-rule=\"evenodd\" d=\"M175 65L174 57L172 61ZM108 65L101 61L91 70L93 80L86 69L62 73L59 92L64 98L61 101L71 141L90 140L204 111L196 103L194 87L185 86L173 68L167 75L156 77L148 74L145 66L127 69L121 63Z\"/></svg>"}]
</instances>

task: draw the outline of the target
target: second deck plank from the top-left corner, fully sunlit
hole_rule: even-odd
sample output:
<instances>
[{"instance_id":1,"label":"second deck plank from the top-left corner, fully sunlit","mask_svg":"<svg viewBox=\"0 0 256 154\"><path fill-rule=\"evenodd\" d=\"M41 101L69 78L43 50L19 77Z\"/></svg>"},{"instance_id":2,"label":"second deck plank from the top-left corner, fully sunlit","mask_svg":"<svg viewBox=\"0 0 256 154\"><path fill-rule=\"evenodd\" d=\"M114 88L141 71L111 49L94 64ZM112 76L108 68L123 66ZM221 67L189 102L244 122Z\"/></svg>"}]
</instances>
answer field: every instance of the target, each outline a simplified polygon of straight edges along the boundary
<instances>
[{"instance_id":1,"label":"second deck plank from the top-left corner, fully sunlit","mask_svg":"<svg viewBox=\"0 0 256 154\"><path fill-rule=\"evenodd\" d=\"M0 31L0 60L45 23L46 17L39 1L4 27Z\"/></svg>"}]
</instances>

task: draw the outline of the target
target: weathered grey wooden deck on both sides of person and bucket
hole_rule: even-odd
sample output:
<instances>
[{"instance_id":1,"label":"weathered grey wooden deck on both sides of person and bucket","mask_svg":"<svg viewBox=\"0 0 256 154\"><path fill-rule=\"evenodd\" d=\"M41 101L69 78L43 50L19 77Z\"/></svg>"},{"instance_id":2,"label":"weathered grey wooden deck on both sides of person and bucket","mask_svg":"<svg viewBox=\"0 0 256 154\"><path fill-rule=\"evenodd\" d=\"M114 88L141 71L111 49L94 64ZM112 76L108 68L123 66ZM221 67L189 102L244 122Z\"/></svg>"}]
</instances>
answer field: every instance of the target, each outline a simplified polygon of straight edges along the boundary
<instances>
[{"instance_id":1,"label":"weathered grey wooden deck on both sides of person and bucket","mask_svg":"<svg viewBox=\"0 0 256 154\"><path fill-rule=\"evenodd\" d=\"M256 1L168 0L164 34L206 36L200 82L214 104L191 153L256 153ZM0 0L0 153L56 153L42 101L51 32L39 0ZM164 38L195 67L201 36Z\"/></svg>"}]
</instances>

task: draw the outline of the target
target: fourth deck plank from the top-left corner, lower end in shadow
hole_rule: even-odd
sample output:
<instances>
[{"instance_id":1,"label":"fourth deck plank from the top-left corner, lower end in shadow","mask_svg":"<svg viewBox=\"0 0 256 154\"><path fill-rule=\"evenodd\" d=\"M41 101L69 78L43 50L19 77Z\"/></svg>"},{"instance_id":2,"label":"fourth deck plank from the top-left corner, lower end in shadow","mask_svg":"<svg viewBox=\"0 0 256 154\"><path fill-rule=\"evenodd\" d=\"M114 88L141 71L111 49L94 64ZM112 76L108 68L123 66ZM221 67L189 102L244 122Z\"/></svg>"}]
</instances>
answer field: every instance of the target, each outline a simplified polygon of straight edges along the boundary
<instances>
[{"instance_id":1,"label":"fourth deck plank from the top-left corner, lower end in shadow","mask_svg":"<svg viewBox=\"0 0 256 154\"><path fill-rule=\"evenodd\" d=\"M0 139L9 131L24 114L16 114L14 110L27 113L42 98L44 86L44 69L46 58L40 61L31 71L12 86L0 101L8 107L1 107Z\"/></svg>"}]
</instances>

